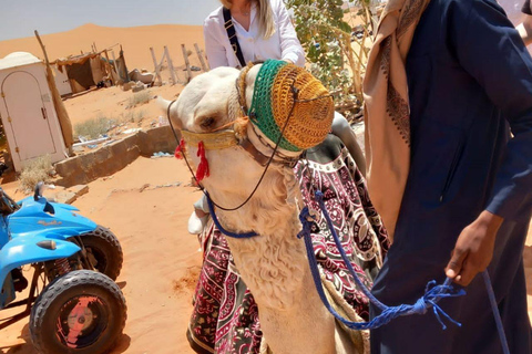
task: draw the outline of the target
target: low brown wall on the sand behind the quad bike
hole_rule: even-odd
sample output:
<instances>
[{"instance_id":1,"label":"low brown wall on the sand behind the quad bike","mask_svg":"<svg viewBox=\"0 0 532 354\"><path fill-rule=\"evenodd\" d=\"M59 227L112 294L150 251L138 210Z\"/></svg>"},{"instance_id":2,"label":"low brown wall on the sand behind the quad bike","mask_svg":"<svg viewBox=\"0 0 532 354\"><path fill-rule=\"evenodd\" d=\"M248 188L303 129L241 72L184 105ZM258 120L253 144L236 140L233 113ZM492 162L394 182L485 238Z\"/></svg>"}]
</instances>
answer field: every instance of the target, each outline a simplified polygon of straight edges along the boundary
<instances>
[{"instance_id":1,"label":"low brown wall on the sand behind the quad bike","mask_svg":"<svg viewBox=\"0 0 532 354\"><path fill-rule=\"evenodd\" d=\"M141 131L88 154L55 164L55 171L60 176L55 184L63 187L84 185L117 173L139 156L150 157L158 152L173 153L176 146L177 142L167 125Z\"/></svg>"}]
</instances>

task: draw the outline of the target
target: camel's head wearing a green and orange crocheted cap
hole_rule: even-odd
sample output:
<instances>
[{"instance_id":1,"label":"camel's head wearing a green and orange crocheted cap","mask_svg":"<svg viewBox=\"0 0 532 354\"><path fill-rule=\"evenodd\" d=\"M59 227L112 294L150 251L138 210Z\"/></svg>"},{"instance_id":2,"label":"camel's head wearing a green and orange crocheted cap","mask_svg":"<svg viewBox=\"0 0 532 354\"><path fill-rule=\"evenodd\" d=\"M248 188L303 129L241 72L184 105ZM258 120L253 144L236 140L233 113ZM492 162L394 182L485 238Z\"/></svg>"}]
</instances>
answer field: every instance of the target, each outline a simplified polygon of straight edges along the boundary
<instances>
[{"instance_id":1,"label":"camel's head wearing a green and orange crocheted cap","mask_svg":"<svg viewBox=\"0 0 532 354\"><path fill-rule=\"evenodd\" d=\"M243 178L257 180L265 159L257 163L255 157L270 156L276 144L278 156L288 158L319 144L332 115L332 98L321 83L283 61L198 75L170 110L196 168L203 144L209 165L205 186L215 184L222 190L234 189Z\"/></svg>"}]
</instances>

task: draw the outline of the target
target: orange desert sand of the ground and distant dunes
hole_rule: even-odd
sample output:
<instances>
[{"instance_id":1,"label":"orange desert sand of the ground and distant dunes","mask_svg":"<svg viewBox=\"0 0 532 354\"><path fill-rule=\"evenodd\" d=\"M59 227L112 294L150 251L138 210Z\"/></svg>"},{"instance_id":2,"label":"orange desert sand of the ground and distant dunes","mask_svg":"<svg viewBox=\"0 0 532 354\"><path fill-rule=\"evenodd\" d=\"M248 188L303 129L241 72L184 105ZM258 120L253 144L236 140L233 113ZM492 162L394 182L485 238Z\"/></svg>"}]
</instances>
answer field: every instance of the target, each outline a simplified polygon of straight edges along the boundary
<instances>
[{"instance_id":1,"label":"orange desert sand of the ground and distant dunes","mask_svg":"<svg viewBox=\"0 0 532 354\"><path fill-rule=\"evenodd\" d=\"M70 32L42 37L50 58L122 43L130 69L153 70L150 46L168 45L174 64L181 65L181 43L203 48L201 27L154 25L129 29L86 24ZM0 58L12 51L29 51L42 58L33 38L0 42ZM177 63L176 63L177 62ZM151 88L151 95L174 98L182 86ZM106 116L142 112L139 127L156 124L162 114L152 100L139 107L127 107L131 92L119 87L101 88L65 101L73 125ZM73 205L119 237L124 250L124 267L119 284L127 301L124 335L113 353L165 354L193 353L185 331L192 311L191 299L202 257L195 236L186 231L192 202L200 191L190 186L190 174L182 162L171 157L140 157L112 177L89 184L89 194ZM178 186L176 186L178 184ZM17 181L2 180L1 187L17 199L23 195ZM525 248L529 302L532 303L532 232ZM529 314L532 315L532 306ZM4 317L3 313L0 317ZM0 353L34 354L28 320L0 331Z\"/></svg>"}]
</instances>

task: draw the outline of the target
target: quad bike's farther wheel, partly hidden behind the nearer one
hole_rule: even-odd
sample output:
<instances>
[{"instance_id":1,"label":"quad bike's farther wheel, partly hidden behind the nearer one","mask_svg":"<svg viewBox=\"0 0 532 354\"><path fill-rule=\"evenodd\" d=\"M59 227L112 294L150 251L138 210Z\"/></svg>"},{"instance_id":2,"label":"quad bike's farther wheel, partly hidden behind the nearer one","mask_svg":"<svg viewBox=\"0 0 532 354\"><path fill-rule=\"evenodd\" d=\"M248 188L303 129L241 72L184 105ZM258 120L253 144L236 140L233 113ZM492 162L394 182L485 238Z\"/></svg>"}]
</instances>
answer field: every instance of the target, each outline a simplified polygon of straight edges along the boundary
<instances>
[{"instance_id":1,"label":"quad bike's farther wheel, partly hidden behind the nearer one","mask_svg":"<svg viewBox=\"0 0 532 354\"><path fill-rule=\"evenodd\" d=\"M119 278L124 254L119 239L110 229L98 226L94 231L81 235L81 241L94 269L112 280Z\"/></svg>"}]
</instances>

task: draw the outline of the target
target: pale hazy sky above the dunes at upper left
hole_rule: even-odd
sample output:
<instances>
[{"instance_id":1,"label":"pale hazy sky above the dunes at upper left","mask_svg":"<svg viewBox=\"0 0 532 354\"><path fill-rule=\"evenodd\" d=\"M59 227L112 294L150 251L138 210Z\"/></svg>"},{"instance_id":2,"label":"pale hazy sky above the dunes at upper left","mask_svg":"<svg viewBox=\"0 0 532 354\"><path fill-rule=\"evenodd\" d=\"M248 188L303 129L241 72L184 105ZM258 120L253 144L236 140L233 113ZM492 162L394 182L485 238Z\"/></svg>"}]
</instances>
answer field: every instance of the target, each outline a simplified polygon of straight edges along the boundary
<instances>
[{"instance_id":1,"label":"pale hazy sky above the dunes at upper left","mask_svg":"<svg viewBox=\"0 0 532 354\"><path fill-rule=\"evenodd\" d=\"M0 0L0 41L105 27L202 24L218 0Z\"/></svg>"}]
</instances>

